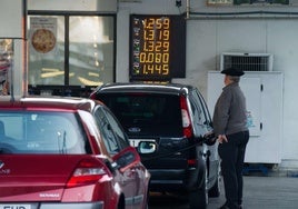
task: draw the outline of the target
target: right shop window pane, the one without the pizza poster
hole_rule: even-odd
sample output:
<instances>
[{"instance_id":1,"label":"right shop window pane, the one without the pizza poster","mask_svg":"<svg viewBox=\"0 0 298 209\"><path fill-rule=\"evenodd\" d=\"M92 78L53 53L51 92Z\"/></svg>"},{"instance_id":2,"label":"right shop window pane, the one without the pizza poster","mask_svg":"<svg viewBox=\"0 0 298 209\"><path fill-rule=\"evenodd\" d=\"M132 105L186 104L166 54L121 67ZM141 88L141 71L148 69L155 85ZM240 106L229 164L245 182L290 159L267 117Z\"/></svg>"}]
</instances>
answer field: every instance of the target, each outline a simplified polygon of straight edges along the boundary
<instances>
[{"instance_id":1,"label":"right shop window pane, the one without the pizza poster","mask_svg":"<svg viewBox=\"0 0 298 209\"><path fill-rule=\"evenodd\" d=\"M99 86L112 81L111 17L70 17L69 84Z\"/></svg>"}]
</instances>

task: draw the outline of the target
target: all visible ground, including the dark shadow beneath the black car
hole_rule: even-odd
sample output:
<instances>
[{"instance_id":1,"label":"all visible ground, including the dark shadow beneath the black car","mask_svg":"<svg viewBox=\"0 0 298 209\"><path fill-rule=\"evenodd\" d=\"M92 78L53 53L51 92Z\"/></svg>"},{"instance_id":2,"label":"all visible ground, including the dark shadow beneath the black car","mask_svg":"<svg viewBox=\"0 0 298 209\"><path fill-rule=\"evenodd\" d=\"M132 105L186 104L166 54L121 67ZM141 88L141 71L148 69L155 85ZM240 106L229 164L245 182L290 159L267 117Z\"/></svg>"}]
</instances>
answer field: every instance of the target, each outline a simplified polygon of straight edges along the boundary
<instances>
[{"instance_id":1,"label":"all visible ground, including the dark shadow beneath the black car","mask_svg":"<svg viewBox=\"0 0 298 209\"><path fill-rule=\"evenodd\" d=\"M268 175L244 177L245 209L298 209L297 176ZM224 182L219 198L209 198L207 209L217 209L225 202ZM177 196L152 196L149 209L188 209L186 200Z\"/></svg>"}]
</instances>

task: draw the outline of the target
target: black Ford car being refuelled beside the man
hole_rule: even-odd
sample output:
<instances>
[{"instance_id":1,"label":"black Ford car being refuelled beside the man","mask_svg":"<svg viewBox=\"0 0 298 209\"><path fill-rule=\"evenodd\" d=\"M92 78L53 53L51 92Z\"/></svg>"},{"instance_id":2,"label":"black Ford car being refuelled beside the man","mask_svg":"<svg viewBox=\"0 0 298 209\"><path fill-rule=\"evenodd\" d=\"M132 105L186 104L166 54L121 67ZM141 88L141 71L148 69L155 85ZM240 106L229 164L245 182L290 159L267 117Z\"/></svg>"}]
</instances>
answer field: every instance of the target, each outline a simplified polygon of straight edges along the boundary
<instances>
[{"instance_id":1,"label":"black Ford car being refuelled beside the man","mask_svg":"<svg viewBox=\"0 0 298 209\"><path fill-rule=\"evenodd\" d=\"M141 160L151 173L150 191L187 195L190 208L219 196L219 157L207 104L196 87L111 83L90 96L119 119L130 143L152 146ZM209 196L208 196L209 195Z\"/></svg>"}]
</instances>

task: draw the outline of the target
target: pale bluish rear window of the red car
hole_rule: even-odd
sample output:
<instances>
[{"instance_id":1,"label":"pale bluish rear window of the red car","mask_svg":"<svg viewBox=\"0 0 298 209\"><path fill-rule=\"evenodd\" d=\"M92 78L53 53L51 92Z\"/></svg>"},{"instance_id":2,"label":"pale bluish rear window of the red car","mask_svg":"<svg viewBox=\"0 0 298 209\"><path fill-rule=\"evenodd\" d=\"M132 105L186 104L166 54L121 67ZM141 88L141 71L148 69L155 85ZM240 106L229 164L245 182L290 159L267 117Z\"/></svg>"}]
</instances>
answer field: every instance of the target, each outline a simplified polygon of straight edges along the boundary
<instances>
[{"instance_id":1,"label":"pale bluish rear window of the red car","mask_svg":"<svg viewBox=\"0 0 298 209\"><path fill-rule=\"evenodd\" d=\"M0 155L86 153L86 142L71 112L0 111Z\"/></svg>"}]
</instances>

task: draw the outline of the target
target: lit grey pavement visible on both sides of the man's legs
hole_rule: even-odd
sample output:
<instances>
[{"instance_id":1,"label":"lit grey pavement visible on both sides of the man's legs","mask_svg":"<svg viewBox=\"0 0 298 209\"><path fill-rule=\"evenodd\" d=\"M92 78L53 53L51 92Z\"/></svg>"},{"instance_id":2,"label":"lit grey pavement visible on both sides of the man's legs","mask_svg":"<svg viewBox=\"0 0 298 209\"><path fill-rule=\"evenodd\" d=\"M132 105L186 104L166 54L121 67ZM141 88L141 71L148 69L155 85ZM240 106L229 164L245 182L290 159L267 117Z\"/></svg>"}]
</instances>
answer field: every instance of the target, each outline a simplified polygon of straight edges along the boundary
<instances>
[{"instance_id":1,"label":"lit grey pavement visible on both sides of the man's legs","mask_svg":"<svg viewBox=\"0 0 298 209\"><path fill-rule=\"evenodd\" d=\"M298 178L285 176L245 176L245 209L297 209ZM225 202L222 181L219 198L210 198L208 209L219 208Z\"/></svg>"}]
</instances>

